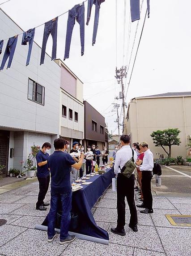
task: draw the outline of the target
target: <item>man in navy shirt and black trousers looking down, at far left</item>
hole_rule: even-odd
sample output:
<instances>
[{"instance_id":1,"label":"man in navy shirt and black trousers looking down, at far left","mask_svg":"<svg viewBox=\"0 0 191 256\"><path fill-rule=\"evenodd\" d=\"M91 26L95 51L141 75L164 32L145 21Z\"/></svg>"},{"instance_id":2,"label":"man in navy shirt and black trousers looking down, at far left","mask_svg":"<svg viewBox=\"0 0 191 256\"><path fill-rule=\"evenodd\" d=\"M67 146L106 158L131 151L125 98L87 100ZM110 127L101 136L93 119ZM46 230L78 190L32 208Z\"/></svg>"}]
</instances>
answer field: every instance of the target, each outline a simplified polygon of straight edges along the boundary
<instances>
[{"instance_id":1,"label":"man in navy shirt and black trousers looking down, at far left","mask_svg":"<svg viewBox=\"0 0 191 256\"><path fill-rule=\"evenodd\" d=\"M39 193L38 193L38 201L36 203L36 209L40 211L46 211L47 207L50 203L44 203L45 196L48 191L49 183L50 183L50 171L47 167L47 159L49 154L47 150L51 149L51 144L49 142L45 142L42 145L42 149L36 155L37 160L37 178L39 182Z\"/></svg>"}]
</instances>

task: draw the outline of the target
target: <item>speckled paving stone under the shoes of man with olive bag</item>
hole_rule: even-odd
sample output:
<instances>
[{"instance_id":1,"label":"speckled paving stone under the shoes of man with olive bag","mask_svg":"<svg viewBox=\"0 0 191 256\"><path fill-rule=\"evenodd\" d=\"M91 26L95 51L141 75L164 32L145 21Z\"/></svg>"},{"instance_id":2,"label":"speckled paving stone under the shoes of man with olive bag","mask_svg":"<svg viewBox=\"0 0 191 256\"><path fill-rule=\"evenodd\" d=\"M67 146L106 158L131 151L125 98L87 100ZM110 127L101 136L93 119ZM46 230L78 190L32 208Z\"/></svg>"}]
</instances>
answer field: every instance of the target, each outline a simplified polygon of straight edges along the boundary
<instances>
[{"instance_id":1,"label":"speckled paving stone under the shoes of man with olive bag","mask_svg":"<svg viewBox=\"0 0 191 256\"><path fill-rule=\"evenodd\" d=\"M115 227L115 223L111 227ZM113 234L109 230L110 243L164 252L155 227L138 225L138 232L133 232L132 229L125 225L125 231L126 235L122 237Z\"/></svg>"}]
</instances>

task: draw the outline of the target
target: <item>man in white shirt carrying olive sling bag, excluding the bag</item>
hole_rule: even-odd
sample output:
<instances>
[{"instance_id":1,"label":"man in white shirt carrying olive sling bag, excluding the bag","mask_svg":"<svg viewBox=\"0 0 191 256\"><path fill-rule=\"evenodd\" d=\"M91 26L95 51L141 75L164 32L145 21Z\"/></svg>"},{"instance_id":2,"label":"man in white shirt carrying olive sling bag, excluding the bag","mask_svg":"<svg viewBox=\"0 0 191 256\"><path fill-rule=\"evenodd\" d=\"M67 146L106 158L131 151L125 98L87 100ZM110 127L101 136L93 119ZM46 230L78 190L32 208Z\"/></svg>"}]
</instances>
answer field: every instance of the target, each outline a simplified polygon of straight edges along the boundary
<instances>
[{"instance_id":1,"label":"man in white shirt carrying olive sling bag, excluding the bag","mask_svg":"<svg viewBox=\"0 0 191 256\"><path fill-rule=\"evenodd\" d=\"M135 175L132 173L131 177L127 178L121 173L121 169L124 164L130 160L133 156L134 161L136 162L137 155L135 150L132 150L130 147L130 138L128 135L122 135L120 137L122 149L117 151L115 155L115 165L114 171L117 175L117 227L111 228L111 232L114 234L125 235L125 197L127 198L127 203L130 209L130 221L129 227L133 231L138 231L137 229L137 212L136 205L134 200L134 184L135 184Z\"/></svg>"}]
</instances>

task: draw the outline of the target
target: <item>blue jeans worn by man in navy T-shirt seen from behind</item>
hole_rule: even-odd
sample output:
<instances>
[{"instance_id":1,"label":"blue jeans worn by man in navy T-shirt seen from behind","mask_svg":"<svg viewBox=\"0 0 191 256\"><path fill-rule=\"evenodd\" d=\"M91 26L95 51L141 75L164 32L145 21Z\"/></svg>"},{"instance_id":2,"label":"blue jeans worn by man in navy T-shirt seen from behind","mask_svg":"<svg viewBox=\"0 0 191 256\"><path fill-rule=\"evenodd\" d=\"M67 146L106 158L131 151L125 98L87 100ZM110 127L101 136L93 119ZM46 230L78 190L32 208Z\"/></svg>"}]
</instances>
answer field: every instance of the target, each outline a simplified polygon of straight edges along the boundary
<instances>
[{"instance_id":1,"label":"blue jeans worn by man in navy T-shirt seen from behind","mask_svg":"<svg viewBox=\"0 0 191 256\"><path fill-rule=\"evenodd\" d=\"M48 213L48 237L55 235L55 224L57 218L58 202L61 199L62 217L60 224L60 240L68 237L68 230L71 220L72 190L65 194L51 192L51 208Z\"/></svg>"}]
</instances>

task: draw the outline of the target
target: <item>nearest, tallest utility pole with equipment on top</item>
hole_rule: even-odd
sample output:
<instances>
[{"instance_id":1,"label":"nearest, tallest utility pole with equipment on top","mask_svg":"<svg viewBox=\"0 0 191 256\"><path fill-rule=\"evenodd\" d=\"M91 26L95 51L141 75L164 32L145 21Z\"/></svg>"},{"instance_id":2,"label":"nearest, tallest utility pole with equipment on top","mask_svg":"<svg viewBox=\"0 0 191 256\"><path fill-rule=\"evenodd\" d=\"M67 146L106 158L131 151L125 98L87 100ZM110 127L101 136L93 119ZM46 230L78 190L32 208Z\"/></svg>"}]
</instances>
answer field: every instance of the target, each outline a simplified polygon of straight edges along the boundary
<instances>
[{"instance_id":1,"label":"nearest, tallest utility pole with equipment on top","mask_svg":"<svg viewBox=\"0 0 191 256\"><path fill-rule=\"evenodd\" d=\"M123 78L127 77L127 72L126 72L126 66L122 66L120 69L115 69L115 78L117 79L118 84L121 84L121 89L122 89L122 95L117 97L116 99L121 99L122 98L122 106L123 106L123 131L124 131L124 121L125 121L125 96L124 96L124 84L123 84Z\"/></svg>"}]
</instances>

